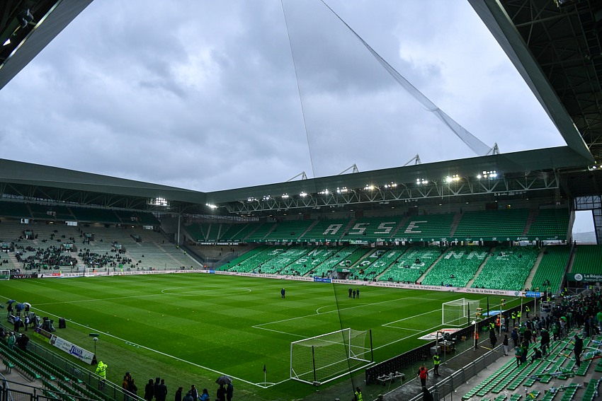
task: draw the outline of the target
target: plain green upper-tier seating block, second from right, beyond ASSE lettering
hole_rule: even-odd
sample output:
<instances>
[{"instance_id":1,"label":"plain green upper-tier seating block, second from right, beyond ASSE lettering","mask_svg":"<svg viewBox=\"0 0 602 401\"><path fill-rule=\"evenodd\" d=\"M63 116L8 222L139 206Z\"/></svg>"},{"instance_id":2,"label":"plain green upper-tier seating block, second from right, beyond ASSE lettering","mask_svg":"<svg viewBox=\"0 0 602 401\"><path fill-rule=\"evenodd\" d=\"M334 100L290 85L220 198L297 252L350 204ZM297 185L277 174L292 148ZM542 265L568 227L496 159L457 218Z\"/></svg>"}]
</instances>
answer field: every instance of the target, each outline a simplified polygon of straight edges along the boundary
<instances>
[{"instance_id":1,"label":"plain green upper-tier seating block, second from right, beyond ASSE lettering","mask_svg":"<svg viewBox=\"0 0 602 401\"><path fill-rule=\"evenodd\" d=\"M520 237L523 236L528 216L528 209L465 211L453 236L455 238Z\"/></svg>"}]
</instances>

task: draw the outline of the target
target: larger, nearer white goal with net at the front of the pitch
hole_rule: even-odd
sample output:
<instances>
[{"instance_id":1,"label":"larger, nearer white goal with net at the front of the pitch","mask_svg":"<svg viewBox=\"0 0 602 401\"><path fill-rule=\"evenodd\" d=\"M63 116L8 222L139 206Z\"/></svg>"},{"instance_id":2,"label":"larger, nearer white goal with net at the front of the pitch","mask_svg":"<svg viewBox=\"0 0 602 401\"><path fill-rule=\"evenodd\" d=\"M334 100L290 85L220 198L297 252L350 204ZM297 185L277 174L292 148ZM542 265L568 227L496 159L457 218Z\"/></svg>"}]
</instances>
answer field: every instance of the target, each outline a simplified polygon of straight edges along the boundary
<instances>
[{"instance_id":1,"label":"larger, nearer white goal with net at the front of the pitch","mask_svg":"<svg viewBox=\"0 0 602 401\"><path fill-rule=\"evenodd\" d=\"M373 363L372 330L346 328L290 343L290 378L320 385Z\"/></svg>"}]
</instances>

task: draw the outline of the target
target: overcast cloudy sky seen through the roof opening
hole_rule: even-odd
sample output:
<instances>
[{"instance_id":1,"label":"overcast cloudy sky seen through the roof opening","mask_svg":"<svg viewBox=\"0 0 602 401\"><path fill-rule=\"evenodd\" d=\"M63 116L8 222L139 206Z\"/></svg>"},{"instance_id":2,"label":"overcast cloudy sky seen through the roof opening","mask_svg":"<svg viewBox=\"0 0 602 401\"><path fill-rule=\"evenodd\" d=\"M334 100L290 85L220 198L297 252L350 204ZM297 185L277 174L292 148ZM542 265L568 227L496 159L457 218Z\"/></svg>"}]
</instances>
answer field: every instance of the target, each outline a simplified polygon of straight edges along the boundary
<instances>
[{"instance_id":1,"label":"overcast cloudy sky seen through the roof opening","mask_svg":"<svg viewBox=\"0 0 602 401\"><path fill-rule=\"evenodd\" d=\"M485 144L564 145L467 1L326 2ZM476 156L321 1L284 11L93 1L0 91L0 157L213 191Z\"/></svg>"}]
</instances>

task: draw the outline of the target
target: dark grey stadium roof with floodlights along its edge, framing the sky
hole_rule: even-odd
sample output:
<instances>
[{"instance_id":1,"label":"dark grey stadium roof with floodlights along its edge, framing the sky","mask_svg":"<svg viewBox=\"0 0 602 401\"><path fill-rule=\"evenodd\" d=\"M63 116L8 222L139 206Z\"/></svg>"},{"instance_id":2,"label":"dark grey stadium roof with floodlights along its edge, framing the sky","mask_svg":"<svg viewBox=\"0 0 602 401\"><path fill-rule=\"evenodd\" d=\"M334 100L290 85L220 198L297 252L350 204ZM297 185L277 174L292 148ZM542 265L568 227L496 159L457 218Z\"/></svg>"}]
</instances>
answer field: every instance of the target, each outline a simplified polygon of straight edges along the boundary
<instances>
[{"instance_id":1,"label":"dark grey stadium roof with floodlights along its edge, framing the sky","mask_svg":"<svg viewBox=\"0 0 602 401\"><path fill-rule=\"evenodd\" d=\"M0 160L2 194L28 202L74 202L147 210L164 209L153 203L153 199L161 198L169 201L169 211L200 214L215 207L220 207L220 214L249 214L448 196L490 199L492 194L514 196L531 190L550 196L558 189L571 195L600 194L602 180L599 170L591 169L594 158L589 152L589 147L596 156L602 152L598 143L602 130L602 111L598 105L601 96L598 63L602 55L596 28L599 7L586 0L469 1L568 146L208 193ZM91 0L7 1L0 9L1 38L4 43L8 34L11 43L0 48L0 88L90 3ZM33 21L15 30L15 24L23 22L23 16L27 15L23 10L27 9ZM485 172L496 172L495 179L491 175L487 180L477 178ZM566 179L561 180L559 174ZM458 181L445 181L454 177Z\"/></svg>"}]
</instances>

